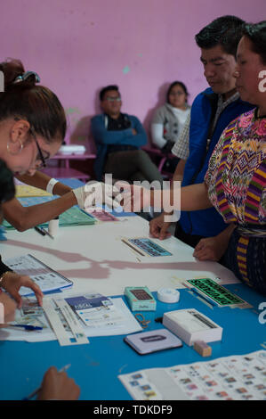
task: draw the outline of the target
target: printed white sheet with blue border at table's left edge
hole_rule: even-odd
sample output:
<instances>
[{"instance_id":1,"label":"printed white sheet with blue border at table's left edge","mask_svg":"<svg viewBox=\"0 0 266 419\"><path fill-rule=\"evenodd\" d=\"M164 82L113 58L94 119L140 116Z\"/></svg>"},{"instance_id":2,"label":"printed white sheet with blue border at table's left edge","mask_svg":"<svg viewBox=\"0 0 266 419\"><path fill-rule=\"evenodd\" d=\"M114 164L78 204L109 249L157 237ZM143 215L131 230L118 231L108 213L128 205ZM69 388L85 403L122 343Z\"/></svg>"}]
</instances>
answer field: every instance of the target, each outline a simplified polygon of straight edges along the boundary
<instances>
[{"instance_id":1,"label":"printed white sheet with blue border at table's left edge","mask_svg":"<svg viewBox=\"0 0 266 419\"><path fill-rule=\"evenodd\" d=\"M73 285L72 281L51 267L47 267L43 262L32 255L18 256L16 258L5 259L5 265L20 275L28 275L39 287L42 292L59 291L63 288L69 288ZM34 293L30 288L21 287L20 295L27 296Z\"/></svg>"}]
</instances>

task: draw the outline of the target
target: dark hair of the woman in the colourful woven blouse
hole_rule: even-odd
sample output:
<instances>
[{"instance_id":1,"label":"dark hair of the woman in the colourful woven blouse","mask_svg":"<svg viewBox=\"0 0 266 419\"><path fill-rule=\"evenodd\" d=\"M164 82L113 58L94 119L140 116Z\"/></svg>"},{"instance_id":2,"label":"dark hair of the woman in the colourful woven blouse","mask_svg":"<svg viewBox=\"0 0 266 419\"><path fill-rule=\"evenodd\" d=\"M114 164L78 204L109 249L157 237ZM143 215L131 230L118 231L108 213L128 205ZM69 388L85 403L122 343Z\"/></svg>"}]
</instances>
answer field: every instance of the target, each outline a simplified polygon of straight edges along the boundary
<instances>
[{"instance_id":1,"label":"dark hair of the woman in the colourful woven blouse","mask_svg":"<svg viewBox=\"0 0 266 419\"><path fill-rule=\"evenodd\" d=\"M246 23L243 36L248 37L252 43L252 50L258 53L262 63L266 64L266 21L259 23Z\"/></svg>"}]
</instances>

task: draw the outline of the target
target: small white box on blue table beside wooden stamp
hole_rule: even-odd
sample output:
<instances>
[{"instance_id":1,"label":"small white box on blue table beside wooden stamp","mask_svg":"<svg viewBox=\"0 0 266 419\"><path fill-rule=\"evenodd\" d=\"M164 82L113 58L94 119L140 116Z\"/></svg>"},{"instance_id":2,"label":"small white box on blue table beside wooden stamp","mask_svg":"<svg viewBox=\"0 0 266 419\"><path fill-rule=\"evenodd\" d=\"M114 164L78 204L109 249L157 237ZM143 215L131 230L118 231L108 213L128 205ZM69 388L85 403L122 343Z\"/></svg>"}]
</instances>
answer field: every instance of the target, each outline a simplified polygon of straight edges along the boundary
<instances>
[{"instance_id":1,"label":"small white box on blue table beside wooden stamp","mask_svg":"<svg viewBox=\"0 0 266 419\"><path fill-rule=\"evenodd\" d=\"M164 314L163 325L181 341L192 346L194 341L221 341L222 327L195 308L169 311Z\"/></svg>"}]
</instances>

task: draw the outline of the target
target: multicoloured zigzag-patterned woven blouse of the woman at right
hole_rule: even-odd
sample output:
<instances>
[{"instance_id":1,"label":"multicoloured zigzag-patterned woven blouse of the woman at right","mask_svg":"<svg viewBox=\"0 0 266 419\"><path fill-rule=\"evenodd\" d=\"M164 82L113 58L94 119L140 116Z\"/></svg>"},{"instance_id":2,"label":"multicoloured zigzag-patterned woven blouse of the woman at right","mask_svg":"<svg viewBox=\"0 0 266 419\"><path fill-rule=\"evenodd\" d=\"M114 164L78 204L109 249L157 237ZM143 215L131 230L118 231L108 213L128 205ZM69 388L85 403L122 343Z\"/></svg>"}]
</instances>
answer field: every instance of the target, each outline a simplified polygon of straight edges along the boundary
<instances>
[{"instance_id":1,"label":"multicoloured zigzag-patterned woven blouse of the woman at right","mask_svg":"<svg viewBox=\"0 0 266 419\"><path fill-rule=\"evenodd\" d=\"M209 198L226 223L266 224L266 118L234 119L209 161Z\"/></svg>"}]
</instances>

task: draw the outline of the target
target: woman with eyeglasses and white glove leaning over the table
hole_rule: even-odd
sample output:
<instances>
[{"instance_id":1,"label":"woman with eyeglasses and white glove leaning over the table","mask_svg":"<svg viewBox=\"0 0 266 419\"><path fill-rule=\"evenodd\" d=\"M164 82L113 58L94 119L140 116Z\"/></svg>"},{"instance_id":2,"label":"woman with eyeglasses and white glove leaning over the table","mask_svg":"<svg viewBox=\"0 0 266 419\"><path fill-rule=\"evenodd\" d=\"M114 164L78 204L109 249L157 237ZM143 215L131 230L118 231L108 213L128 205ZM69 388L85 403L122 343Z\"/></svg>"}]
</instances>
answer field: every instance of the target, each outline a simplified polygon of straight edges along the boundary
<instances>
[{"instance_id":1,"label":"woman with eyeglasses and white glove leaning over the table","mask_svg":"<svg viewBox=\"0 0 266 419\"><path fill-rule=\"evenodd\" d=\"M97 188L93 184L71 190L37 171L62 144L66 134L65 112L57 96L38 85L38 75L25 71L20 60L0 63L0 71L4 74L4 92L0 93L0 158L22 182L61 195L59 199L31 207L22 207L15 198L4 203L4 218L24 231L59 216L73 205L84 208L88 197L93 202ZM96 186L104 198L103 185Z\"/></svg>"}]
</instances>

